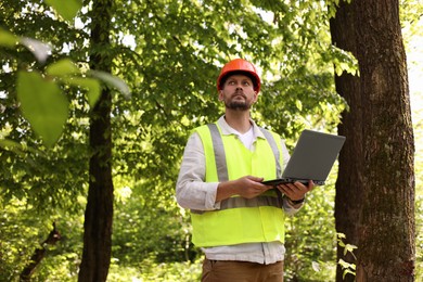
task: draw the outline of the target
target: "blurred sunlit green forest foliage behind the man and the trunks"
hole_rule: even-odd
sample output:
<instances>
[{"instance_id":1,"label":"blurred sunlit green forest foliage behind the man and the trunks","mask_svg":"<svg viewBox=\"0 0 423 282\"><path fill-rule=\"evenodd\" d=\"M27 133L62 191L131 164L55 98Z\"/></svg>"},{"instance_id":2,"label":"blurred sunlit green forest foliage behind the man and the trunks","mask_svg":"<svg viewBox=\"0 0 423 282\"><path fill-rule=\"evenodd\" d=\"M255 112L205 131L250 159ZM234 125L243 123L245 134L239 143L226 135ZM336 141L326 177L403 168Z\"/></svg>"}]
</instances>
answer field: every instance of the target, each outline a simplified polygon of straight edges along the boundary
<instances>
[{"instance_id":1,"label":"blurred sunlit green forest foliage behind the man and the trunks","mask_svg":"<svg viewBox=\"0 0 423 282\"><path fill-rule=\"evenodd\" d=\"M264 85L254 118L280 132L290 148L304 128L335 132L348 108L335 91L334 74L356 75L357 61L331 42L329 18L337 1L116 0L106 46L91 43L93 7L101 1L81 2L76 17L57 9L60 1L46 2L0 3L0 280L20 275L53 222L61 240L49 246L33 279L77 279L89 159L98 153L89 145L89 120L99 89L111 91L112 102L110 281L197 280L201 252L190 243L189 215L177 206L174 190L190 130L222 113L215 80L225 62L241 56L258 66ZM415 26L410 14L405 23ZM35 56L34 42L4 43L9 33L48 43L46 61ZM99 86L91 80L99 77L90 73L93 54L110 59L111 74L126 82L130 98L118 82L107 85L110 77ZM62 66L61 75L52 74L51 65L64 59L77 70ZM22 112L24 70L56 84L68 103L57 140L48 142ZM333 172L289 222L287 280L334 279Z\"/></svg>"}]
</instances>

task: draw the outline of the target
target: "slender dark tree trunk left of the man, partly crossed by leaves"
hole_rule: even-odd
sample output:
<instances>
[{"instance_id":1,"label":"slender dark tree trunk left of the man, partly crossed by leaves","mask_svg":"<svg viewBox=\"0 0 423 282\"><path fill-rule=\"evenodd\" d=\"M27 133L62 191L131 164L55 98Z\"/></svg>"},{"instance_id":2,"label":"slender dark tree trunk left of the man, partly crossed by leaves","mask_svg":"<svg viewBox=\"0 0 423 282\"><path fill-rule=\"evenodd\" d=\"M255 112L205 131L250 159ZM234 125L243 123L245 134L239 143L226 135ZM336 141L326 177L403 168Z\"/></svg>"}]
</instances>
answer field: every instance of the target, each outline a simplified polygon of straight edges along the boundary
<instances>
[{"instance_id":1,"label":"slender dark tree trunk left of the man, partly crossed by leaves","mask_svg":"<svg viewBox=\"0 0 423 282\"><path fill-rule=\"evenodd\" d=\"M110 29L113 0L92 2L91 69L111 73ZM90 179L84 222L84 252L78 281L106 281L112 251L113 180L112 180L112 95L103 88L90 116Z\"/></svg>"}]
</instances>

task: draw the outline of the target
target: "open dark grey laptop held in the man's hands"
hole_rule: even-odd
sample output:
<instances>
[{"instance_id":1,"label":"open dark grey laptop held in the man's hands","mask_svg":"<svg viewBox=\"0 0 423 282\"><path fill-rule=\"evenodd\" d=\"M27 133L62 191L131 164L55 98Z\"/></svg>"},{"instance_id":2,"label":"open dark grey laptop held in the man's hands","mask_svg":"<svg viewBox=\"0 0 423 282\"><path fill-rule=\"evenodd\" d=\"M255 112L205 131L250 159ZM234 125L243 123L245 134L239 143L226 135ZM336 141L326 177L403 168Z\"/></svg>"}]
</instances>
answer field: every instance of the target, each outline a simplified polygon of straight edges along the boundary
<instances>
[{"instance_id":1,"label":"open dark grey laptop held in the man's hands","mask_svg":"<svg viewBox=\"0 0 423 282\"><path fill-rule=\"evenodd\" d=\"M344 145L345 137L312 130L304 130L295 145L282 178L264 181L267 185L295 181L323 185L336 157Z\"/></svg>"}]
</instances>

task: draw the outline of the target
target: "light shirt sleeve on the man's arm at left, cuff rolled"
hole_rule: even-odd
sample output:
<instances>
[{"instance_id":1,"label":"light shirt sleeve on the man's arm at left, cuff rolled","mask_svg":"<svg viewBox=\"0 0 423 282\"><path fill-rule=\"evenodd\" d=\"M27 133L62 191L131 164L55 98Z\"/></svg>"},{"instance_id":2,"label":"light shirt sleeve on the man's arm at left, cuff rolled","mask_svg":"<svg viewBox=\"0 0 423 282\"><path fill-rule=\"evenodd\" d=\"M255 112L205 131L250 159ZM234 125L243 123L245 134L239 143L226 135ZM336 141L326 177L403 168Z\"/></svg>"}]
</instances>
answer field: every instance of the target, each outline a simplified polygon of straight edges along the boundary
<instances>
[{"instance_id":1,"label":"light shirt sleeve on the man's arm at left, cuff rolled","mask_svg":"<svg viewBox=\"0 0 423 282\"><path fill-rule=\"evenodd\" d=\"M205 163L202 140L194 132L187 142L176 185L176 197L181 207L197 210L220 208L220 203L215 203L218 182L205 182Z\"/></svg>"}]
</instances>

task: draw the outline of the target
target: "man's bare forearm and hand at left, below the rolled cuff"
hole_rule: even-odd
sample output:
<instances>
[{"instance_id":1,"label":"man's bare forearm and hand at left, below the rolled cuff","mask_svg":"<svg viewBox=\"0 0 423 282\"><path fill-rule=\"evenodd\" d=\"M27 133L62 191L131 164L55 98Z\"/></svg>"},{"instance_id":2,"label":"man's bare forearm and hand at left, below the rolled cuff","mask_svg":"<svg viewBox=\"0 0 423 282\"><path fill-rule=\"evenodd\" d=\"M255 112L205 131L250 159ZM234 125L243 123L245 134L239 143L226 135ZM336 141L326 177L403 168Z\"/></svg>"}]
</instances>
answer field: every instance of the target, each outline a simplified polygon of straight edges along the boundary
<instances>
[{"instance_id":1,"label":"man's bare forearm and hand at left, below the rolled cuff","mask_svg":"<svg viewBox=\"0 0 423 282\"><path fill-rule=\"evenodd\" d=\"M245 176L236 180L221 182L217 187L216 202L220 202L233 195L240 195L245 198L253 198L269 189L271 185L265 185L261 183L264 178Z\"/></svg>"}]
</instances>

